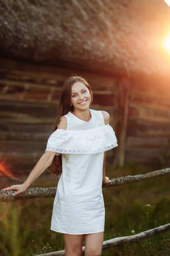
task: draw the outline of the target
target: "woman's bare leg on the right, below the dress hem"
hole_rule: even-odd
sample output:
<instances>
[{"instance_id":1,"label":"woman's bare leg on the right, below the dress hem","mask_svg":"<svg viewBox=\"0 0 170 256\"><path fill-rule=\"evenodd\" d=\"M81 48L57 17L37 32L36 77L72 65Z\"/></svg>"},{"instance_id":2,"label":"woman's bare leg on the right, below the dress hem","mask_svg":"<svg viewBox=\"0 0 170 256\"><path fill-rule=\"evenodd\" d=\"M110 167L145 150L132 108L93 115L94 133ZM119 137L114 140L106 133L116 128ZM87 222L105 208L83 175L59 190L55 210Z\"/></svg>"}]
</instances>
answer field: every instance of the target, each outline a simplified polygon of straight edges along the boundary
<instances>
[{"instance_id":1,"label":"woman's bare leg on the right, below the dress hem","mask_svg":"<svg viewBox=\"0 0 170 256\"><path fill-rule=\"evenodd\" d=\"M104 231L85 234L85 256L101 256L104 239Z\"/></svg>"}]
</instances>

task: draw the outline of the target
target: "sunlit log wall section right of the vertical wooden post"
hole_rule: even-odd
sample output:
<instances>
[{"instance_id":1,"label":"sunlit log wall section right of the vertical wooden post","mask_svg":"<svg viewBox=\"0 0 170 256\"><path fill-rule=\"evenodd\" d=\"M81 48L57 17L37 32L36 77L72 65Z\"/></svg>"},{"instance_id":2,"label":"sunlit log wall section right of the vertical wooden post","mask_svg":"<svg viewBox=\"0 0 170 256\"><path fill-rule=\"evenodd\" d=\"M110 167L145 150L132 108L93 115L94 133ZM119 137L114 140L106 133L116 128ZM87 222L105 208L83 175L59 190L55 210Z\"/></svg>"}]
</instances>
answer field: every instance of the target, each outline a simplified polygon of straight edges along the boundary
<instances>
[{"instance_id":1,"label":"sunlit log wall section right of the vertical wooden post","mask_svg":"<svg viewBox=\"0 0 170 256\"><path fill-rule=\"evenodd\" d=\"M131 81L128 112L126 160L159 168L159 158L164 167L170 165L163 159L165 155L170 159L170 81L165 77Z\"/></svg>"}]
</instances>

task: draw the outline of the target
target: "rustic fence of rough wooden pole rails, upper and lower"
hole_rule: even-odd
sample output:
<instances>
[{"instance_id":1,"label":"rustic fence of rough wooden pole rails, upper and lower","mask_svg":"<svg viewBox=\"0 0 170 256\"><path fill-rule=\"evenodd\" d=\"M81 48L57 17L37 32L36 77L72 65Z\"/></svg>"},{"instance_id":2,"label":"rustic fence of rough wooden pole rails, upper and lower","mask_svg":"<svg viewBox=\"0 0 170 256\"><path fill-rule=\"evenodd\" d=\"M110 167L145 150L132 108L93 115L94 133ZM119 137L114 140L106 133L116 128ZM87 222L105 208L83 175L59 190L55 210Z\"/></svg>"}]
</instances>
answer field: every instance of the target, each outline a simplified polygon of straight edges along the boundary
<instances>
[{"instance_id":1,"label":"rustic fence of rough wooden pole rails, upper and lower","mask_svg":"<svg viewBox=\"0 0 170 256\"><path fill-rule=\"evenodd\" d=\"M158 176L167 175L167 174L170 174L170 168L161 169L154 172L148 172L142 175L139 174L139 175L133 175L133 176L129 175L126 177L119 177L116 179L112 179L110 184L102 185L102 187L111 187L111 186L119 186L127 183L135 183L142 180L147 180L153 177L158 177ZM9 201L14 201L19 199L54 197L56 194L56 190L57 190L57 187L31 188L31 189L27 189L25 192L15 197L12 196L14 190L10 190L10 191L1 190L0 201L9 202ZM146 239L148 237L155 236L160 233L164 233L167 230L170 230L170 223L153 228L151 230L146 230L142 233L135 234L133 236L123 236L123 237L110 239L103 242L102 250L105 250L111 247L116 247L119 245L124 245L124 244L133 244L143 239ZM52 253L43 253L37 256L64 256L64 254L65 254L65 250L60 250ZM82 247L82 256L83 255L85 255L85 246Z\"/></svg>"}]
</instances>

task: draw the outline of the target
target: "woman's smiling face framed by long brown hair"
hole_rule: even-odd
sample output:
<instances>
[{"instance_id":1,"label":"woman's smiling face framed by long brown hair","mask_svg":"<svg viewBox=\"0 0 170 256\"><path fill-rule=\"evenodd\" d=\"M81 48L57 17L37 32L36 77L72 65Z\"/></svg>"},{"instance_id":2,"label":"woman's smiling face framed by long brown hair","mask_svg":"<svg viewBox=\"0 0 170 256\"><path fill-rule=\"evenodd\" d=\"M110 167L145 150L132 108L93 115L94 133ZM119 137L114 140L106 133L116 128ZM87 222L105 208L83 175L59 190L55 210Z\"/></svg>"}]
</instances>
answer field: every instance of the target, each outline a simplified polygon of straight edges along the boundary
<instances>
[{"instance_id":1,"label":"woman's smiling face framed by long brown hair","mask_svg":"<svg viewBox=\"0 0 170 256\"><path fill-rule=\"evenodd\" d=\"M80 81L75 82L71 88L70 104L73 105L74 109L85 110L89 108L90 103L91 96L86 85Z\"/></svg>"}]
</instances>

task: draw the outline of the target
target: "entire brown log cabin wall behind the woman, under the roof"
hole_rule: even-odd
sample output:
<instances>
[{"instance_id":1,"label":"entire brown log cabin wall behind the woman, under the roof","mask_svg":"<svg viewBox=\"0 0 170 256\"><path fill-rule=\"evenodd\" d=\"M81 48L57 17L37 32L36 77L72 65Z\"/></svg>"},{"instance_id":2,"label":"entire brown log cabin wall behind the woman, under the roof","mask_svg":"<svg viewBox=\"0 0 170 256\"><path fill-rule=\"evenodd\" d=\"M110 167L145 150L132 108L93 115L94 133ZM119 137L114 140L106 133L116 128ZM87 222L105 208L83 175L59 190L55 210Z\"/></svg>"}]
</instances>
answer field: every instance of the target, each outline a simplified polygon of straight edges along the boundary
<instances>
[{"instance_id":1,"label":"entire brown log cabin wall behind the woman, under the roof","mask_svg":"<svg viewBox=\"0 0 170 256\"><path fill-rule=\"evenodd\" d=\"M114 164L149 164L168 146L170 93L150 81L132 81L1 59L1 170L28 174L44 153L62 84L81 75L91 84L92 108L110 113L119 147L107 152ZM5 168L4 168L5 166Z\"/></svg>"}]
</instances>

